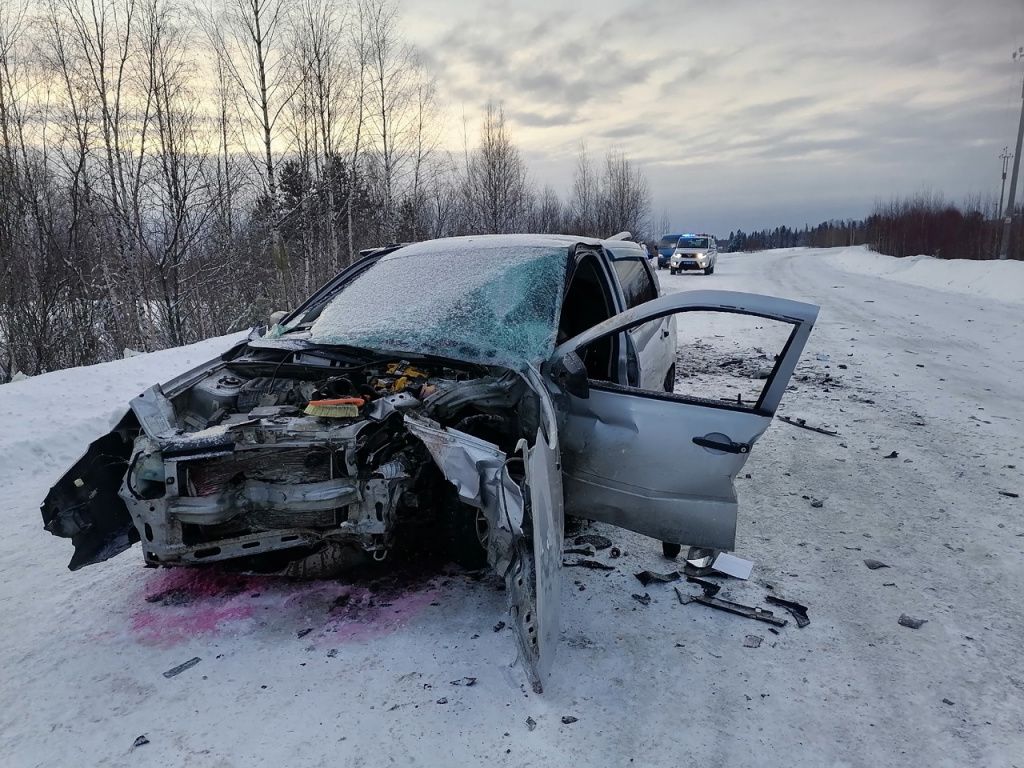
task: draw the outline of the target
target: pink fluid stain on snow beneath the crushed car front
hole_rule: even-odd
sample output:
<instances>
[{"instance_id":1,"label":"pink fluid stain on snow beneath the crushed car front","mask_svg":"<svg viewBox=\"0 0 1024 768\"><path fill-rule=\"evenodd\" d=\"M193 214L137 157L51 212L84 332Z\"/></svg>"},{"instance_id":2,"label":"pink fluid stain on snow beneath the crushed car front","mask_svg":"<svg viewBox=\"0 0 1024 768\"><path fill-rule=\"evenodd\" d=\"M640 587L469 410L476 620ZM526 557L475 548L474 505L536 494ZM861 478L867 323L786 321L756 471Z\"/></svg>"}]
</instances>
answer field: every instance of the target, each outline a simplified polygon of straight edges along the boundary
<instances>
[{"instance_id":1,"label":"pink fluid stain on snow beneath the crushed car front","mask_svg":"<svg viewBox=\"0 0 1024 768\"><path fill-rule=\"evenodd\" d=\"M224 631L295 634L317 645L390 634L433 602L431 582L375 590L338 582L292 582L212 568L174 568L145 584L130 617L147 645L171 646ZM248 626L244 626L244 623Z\"/></svg>"}]
</instances>

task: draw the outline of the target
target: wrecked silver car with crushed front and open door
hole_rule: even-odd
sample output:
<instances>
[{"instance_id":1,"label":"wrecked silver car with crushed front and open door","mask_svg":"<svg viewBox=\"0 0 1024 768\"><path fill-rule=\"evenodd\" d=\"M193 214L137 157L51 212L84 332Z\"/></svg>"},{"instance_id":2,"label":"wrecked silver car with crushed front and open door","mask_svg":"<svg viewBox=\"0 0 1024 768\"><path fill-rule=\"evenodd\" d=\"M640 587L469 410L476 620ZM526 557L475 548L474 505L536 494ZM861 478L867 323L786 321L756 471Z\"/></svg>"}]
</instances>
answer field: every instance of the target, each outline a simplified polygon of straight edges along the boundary
<instances>
[{"instance_id":1,"label":"wrecked silver car with crushed front and open door","mask_svg":"<svg viewBox=\"0 0 1024 768\"><path fill-rule=\"evenodd\" d=\"M785 328L756 394L679 392L690 312ZM563 513L667 554L732 549L733 480L816 314L752 294L658 296L646 253L624 241L381 249L269 331L139 394L51 488L43 522L72 539L72 569L141 542L155 566L297 578L439 536L504 578L539 688L558 637Z\"/></svg>"}]
</instances>

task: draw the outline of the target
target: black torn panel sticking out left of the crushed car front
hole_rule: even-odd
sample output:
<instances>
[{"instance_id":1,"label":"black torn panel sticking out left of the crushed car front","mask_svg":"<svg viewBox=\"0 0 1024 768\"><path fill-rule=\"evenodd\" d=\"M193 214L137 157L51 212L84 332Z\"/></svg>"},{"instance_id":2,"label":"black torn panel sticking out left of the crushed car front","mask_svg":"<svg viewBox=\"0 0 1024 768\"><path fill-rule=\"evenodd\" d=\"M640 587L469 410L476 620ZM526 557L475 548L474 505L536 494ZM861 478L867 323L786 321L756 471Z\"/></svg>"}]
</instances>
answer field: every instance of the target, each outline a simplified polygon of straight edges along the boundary
<instances>
[{"instance_id":1,"label":"black torn panel sticking out left of the crushed car front","mask_svg":"<svg viewBox=\"0 0 1024 768\"><path fill-rule=\"evenodd\" d=\"M75 545L68 564L71 570L108 560L139 541L118 496L137 431L134 414L126 413L111 432L89 445L43 500L43 527Z\"/></svg>"}]
</instances>

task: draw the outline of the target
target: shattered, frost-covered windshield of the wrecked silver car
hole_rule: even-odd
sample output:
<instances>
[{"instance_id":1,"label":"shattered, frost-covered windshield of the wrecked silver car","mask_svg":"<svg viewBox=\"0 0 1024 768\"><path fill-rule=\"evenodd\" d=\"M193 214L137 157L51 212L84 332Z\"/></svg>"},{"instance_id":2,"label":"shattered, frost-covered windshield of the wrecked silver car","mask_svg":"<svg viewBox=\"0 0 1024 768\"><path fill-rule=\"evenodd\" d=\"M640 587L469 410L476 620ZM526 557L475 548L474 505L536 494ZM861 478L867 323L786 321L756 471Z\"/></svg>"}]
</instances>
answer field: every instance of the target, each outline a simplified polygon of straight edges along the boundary
<instances>
[{"instance_id":1,"label":"shattered, frost-covered windshield of the wrecked silver car","mask_svg":"<svg viewBox=\"0 0 1024 768\"><path fill-rule=\"evenodd\" d=\"M522 369L554 349L567 261L554 244L402 248L334 297L309 340Z\"/></svg>"}]
</instances>

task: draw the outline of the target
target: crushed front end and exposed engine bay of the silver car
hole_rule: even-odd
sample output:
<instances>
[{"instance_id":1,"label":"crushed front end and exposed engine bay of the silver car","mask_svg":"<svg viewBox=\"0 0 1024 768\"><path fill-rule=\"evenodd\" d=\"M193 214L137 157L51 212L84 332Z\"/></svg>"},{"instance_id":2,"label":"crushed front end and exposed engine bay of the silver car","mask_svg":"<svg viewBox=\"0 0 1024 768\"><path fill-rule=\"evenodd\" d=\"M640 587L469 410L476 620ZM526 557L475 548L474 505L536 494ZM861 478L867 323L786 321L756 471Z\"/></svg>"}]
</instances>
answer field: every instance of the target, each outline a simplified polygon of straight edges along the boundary
<instances>
[{"instance_id":1,"label":"crushed front end and exposed engine bay of the silver car","mask_svg":"<svg viewBox=\"0 0 1024 768\"><path fill-rule=\"evenodd\" d=\"M250 350L147 390L119 490L146 562L321 578L426 527L460 562L507 565L536 399L509 371L451 365Z\"/></svg>"}]
</instances>

